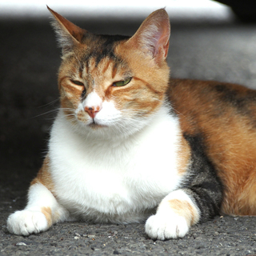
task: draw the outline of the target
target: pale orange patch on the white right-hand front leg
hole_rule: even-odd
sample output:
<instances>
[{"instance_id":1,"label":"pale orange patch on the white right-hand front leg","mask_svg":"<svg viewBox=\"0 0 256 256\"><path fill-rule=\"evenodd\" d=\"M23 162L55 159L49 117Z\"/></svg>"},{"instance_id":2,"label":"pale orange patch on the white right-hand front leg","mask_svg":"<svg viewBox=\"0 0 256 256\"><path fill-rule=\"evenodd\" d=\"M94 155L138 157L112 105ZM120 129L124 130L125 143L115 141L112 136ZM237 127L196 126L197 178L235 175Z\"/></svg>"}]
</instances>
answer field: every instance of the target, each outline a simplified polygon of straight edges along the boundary
<instances>
[{"instance_id":1,"label":"pale orange patch on the white right-hand front leg","mask_svg":"<svg viewBox=\"0 0 256 256\"><path fill-rule=\"evenodd\" d=\"M169 201L170 207L176 214L186 218L189 226L198 222L198 210L185 200L172 199Z\"/></svg>"}]
</instances>

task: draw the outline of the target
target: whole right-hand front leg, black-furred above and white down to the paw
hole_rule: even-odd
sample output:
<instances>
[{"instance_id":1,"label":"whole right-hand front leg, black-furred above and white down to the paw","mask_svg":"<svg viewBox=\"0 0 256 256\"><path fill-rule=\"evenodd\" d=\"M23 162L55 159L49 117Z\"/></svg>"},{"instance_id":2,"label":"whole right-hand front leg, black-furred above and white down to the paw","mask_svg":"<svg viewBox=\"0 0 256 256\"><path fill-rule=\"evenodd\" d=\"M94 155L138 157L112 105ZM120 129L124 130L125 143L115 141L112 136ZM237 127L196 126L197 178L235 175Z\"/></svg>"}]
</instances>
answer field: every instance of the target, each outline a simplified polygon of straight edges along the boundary
<instances>
[{"instance_id":1,"label":"whole right-hand front leg, black-furred above and white down to the paw","mask_svg":"<svg viewBox=\"0 0 256 256\"><path fill-rule=\"evenodd\" d=\"M163 198L157 213L146 221L146 234L150 238L182 238L190 226L219 214L223 187L205 154L202 138L189 135L185 138L191 149L185 187Z\"/></svg>"}]
</instances>

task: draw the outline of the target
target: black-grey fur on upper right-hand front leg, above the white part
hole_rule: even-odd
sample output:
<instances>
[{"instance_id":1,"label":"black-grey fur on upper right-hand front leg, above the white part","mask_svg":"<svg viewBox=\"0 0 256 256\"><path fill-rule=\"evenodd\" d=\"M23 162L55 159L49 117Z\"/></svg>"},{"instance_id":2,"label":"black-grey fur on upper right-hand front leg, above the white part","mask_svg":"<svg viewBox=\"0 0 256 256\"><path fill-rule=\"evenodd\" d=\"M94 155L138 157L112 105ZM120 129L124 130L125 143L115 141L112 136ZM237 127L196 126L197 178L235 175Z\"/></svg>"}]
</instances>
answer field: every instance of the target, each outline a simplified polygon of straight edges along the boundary
<instances>
[{"instance_id":1,"label":"black-grey fur on upper right-hand front leg, above the white part","mask_svg":"<svg viewBox=\"0 0 256 256\"><path fill-rule=\"evenodd\" d=\"M191 165L186 182L186 194L196 202L201 211L200 222L219 214L222 203L222 183L213 164L206 156L202 136L184 134L191 148Z\"/></svg>"}]
</instances>

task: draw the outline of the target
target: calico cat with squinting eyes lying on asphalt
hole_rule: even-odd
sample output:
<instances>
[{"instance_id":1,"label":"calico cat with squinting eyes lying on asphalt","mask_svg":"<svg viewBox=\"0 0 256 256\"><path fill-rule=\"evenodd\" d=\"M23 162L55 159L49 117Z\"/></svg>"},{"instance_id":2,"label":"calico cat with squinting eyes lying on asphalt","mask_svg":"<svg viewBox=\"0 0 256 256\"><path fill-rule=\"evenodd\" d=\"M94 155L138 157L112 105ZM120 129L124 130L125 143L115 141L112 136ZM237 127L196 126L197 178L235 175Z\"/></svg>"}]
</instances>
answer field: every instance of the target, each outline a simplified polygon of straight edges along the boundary
<instances>
[{"instance_id":1,"label":"calico cat with squinting eyes lying on asphalt","mask_svg":"<svg viewBox=\"0 0 256 256\"><path fill-rule=\"evenodd\" d=\"M164 9L131 38L50 12L61 108L27 206L7 220L11 233L70 219L146 221L146 234L164 240L220 212L256 214L254 90L170 79Z\"/></svg>"}]
</instances>

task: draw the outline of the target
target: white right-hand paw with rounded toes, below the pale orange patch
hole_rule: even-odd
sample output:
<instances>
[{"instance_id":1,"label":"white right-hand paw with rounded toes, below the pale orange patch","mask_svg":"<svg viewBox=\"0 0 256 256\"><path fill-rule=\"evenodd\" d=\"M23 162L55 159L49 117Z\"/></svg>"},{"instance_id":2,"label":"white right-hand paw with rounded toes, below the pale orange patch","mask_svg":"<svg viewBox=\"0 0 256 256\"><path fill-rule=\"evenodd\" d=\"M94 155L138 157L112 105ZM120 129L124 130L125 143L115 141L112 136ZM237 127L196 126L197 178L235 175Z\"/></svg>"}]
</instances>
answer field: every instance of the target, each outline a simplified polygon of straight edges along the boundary
<instances>
[{"instance_id":1,"label":"white right-hand paw with rounded toes, below the pale orange patch","mask_svg":"<svg viewBox=\"0 0 256 256\"><path fill-rule=\"evenodd\" d=\"M189 226L182 216L155 214L146 221L145 231L152 239L166 240L183 238L189 231Z\"/></svg>"}]
</instances>

